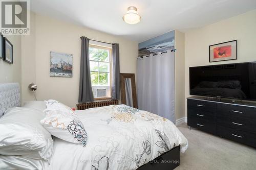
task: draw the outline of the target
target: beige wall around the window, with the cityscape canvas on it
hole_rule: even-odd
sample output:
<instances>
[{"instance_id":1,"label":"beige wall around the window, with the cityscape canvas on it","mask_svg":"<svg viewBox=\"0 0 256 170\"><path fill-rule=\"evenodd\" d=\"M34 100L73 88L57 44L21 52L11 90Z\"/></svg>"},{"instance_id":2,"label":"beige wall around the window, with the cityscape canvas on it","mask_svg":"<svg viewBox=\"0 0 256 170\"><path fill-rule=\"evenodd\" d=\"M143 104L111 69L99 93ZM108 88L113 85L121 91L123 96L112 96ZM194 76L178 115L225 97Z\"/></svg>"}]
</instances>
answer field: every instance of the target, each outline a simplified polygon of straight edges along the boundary
<instances>
[{"instance_id":1,"label":"beige wall around the window, with the cityscape canvas on it","mask_svg":"<svg viewBox=\"0 0 256 170\"><path fill-rule=\"evenodd\" d=\"M23 101L33 100L29 83L36 83L38 100L55 99L70 107L78 103L80 36L119 43L120 72L137 72L138 42L31 13L29 38L23 38ZM34 27L34 29L33 29ZM33 29L33 30L32 30ZM50 52L73 54L73 78L50 77ZM31 75L32 74L32 75Z\"/></svg>"}]
</instances>

